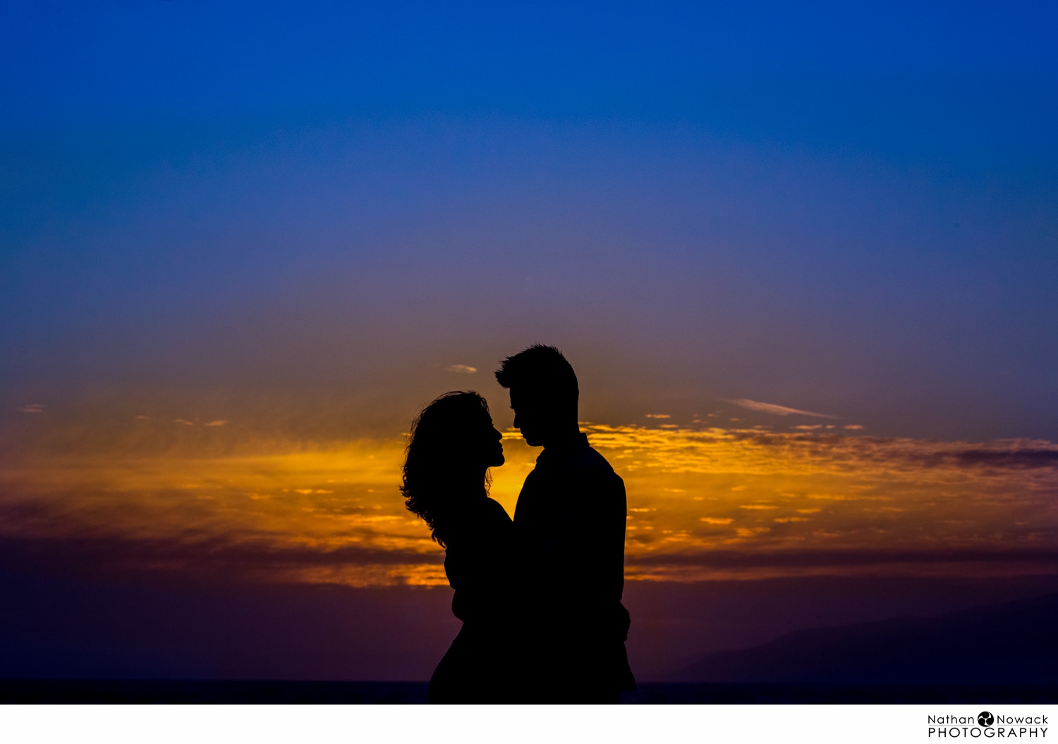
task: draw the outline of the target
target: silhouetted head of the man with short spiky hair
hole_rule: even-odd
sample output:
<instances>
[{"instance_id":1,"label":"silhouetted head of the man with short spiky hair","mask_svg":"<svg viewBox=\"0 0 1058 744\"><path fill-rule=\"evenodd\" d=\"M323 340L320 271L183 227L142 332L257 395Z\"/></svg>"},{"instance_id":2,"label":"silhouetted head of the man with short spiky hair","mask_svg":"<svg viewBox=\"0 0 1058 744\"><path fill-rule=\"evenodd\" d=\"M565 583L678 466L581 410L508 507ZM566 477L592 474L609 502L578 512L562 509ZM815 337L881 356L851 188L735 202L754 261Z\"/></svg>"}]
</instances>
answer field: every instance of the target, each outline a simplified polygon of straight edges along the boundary
<instances>
[{"instance_id":1,"label":"silhouetted head of the man with short spiky hair","mask_svg":"<svg viewBox=\"0 0 1058 744\"><path fill-rule=\"evenodd\" d=\"M547 446L579 431L577 375L554 347L534 343L507 357L496 382L511 391L514 426L528 444Z\"/></svg>"}]
</instances>

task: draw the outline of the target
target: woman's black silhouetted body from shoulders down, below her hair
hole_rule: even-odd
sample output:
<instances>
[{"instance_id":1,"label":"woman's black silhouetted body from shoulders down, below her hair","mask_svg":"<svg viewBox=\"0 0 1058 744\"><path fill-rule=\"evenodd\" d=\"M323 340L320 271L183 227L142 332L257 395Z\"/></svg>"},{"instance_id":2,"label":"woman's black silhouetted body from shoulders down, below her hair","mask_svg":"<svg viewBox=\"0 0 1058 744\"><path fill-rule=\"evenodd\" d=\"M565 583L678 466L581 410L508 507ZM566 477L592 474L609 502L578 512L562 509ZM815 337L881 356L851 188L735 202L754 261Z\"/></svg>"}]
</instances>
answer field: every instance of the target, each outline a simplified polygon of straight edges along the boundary
<instances>
[{"instance_id":1,"label":"woman's black silhouetted body from shoulders down, below her hair","mask_svg":"<svg viewBox=\"0 0 1058 744\"><path fill-rule=\"evenodd\" d=\"M517 699L511 656L513 525L487 497L445 525L444 573L463 621L430 680L431 703L503 703Z\"/></svg>"}]
</instances>

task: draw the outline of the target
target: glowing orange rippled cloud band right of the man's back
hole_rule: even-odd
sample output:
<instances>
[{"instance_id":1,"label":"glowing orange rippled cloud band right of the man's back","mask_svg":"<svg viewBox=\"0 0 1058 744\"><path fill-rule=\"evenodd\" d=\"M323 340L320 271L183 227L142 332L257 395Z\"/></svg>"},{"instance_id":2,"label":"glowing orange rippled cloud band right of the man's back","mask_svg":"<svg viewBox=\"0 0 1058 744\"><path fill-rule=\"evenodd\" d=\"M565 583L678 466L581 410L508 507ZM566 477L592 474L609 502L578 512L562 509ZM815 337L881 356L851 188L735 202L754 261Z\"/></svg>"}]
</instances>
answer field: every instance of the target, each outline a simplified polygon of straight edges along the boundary
<instances>
[{"instance_id":1,"label":"glowing orange rippled cloud band right of the man's back","mask_svg":"<svg viewBox=\"0 0 1058 744\"><path fill-rule=\"evenodd\" d=\"M650 515L655 534L687 531L678 543L630 532L632 579L855 575L869 563L892 575L982 570L970 559L944 558L959 551L987 553L989 575L1013 576L1040 570L1038 555L1022 557L1015 546L1058 553L1058 446L1047 442L937 442L840 429L584 428L624 479L628 505L644 506L649 498L657 508ZM768 558L755 568L749 558L741 568L710 563L718 550ZM786 552L900 558L798 566L784 562Z\"/></svg>"}]
</instances>

